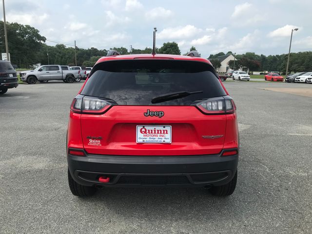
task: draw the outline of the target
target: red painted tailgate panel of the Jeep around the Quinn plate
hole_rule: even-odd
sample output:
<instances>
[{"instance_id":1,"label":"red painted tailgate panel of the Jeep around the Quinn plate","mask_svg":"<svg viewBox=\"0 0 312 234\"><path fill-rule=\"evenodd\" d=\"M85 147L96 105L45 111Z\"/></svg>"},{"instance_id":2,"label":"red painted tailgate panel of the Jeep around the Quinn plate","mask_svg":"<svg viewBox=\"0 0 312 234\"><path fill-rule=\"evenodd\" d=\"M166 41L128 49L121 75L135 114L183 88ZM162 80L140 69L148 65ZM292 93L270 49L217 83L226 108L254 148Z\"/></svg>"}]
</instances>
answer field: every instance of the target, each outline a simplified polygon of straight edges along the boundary
<instances>
[{"instance_id":1,"label":"red painted tailgate panel of the Jeep around the Quinn plate","mask_svg":"<svg viewBox=\"0 0 312 234\"><path fill-rule=\"evenodd\" d=\"M145 116L147 110L162 111L164 115ZM137 126L170 127L171 143L137 143ZM225 115L204 115L194 106L119 105L102 115L81 115L84 149L89 154L100 155L218 154L223 149L225 128ZM159 132L154 133L152 137L161 137L156 136ZM209 138L211 136L219 138Z\"/></svg>"}]
</instances>

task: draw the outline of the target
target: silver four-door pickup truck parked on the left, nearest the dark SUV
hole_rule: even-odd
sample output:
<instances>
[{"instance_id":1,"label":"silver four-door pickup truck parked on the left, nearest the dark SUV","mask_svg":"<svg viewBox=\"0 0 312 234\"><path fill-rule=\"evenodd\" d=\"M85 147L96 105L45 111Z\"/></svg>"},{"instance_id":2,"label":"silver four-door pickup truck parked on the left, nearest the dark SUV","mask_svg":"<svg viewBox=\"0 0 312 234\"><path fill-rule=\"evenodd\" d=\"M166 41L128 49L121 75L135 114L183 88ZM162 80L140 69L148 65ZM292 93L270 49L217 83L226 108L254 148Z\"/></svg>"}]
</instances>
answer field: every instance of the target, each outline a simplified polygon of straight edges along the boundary
<instances>
[{"instance_id":1,"label":"silver four-door pickup truck parked on the left, nearest the dark SUV","mask_svg":"<svg viewBox=\"0 0 312 234\"><path fill-rule=\"evenodd\" d=\"M20 72L20 79L29 84L35 84L37 81L48 82L49 80L73 83L77 78L79 78L78 71L69 70L68 66L60 65L41 65L34 70Z\"/></svg>"}]
</instances>

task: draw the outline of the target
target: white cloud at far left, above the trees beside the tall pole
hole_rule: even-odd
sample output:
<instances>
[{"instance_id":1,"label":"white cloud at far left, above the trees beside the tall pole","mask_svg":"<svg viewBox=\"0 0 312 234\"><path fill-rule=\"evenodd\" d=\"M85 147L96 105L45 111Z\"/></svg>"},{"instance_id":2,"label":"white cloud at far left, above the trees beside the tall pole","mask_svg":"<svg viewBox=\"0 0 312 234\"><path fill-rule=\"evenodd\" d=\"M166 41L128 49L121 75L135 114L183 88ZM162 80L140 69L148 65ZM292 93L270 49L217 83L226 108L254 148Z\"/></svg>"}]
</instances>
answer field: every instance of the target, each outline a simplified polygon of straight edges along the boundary
<instances>
[{"instance_id":1,"label":"white cloud at far left, above the trees beside the tall pole","mask_svg":"<svg viewBox=\"0 0 312 234\"><path fill-rule=\"evenodd\" d=\"M6 15L6 20L8 22L18 22L21 24L29 24L29 25L42 24L48 18L49 18L49 15L46 13L44 13L43 15L36 15L34 13L15 14L15 13L9 12Z\"/></svg>"}]
</instances>

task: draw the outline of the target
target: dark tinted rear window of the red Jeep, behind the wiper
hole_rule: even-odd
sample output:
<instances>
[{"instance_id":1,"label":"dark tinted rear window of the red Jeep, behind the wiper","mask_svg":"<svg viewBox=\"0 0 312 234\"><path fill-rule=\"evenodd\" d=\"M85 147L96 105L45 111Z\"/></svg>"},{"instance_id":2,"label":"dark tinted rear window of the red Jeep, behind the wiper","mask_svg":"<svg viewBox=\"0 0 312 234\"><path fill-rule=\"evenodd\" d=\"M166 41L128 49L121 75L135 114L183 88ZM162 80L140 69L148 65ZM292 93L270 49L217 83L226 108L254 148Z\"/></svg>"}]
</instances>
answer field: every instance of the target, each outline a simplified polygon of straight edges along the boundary
<instances>
[{"instance_id":1,"label":"dark tinted rear window of the red Jeep, behind the wiper","mask_svg":"<svg viewBox=\"0 0 312 234\"><path fill-rule=\"evenodd\" d=\"M82 95L109 98L119 105L191 105L195 100L225 96L213 67L204 62L119 60L96 65ZM181 91L200 94L152 104L152 98Z\"/></svg>"}]
</instances>

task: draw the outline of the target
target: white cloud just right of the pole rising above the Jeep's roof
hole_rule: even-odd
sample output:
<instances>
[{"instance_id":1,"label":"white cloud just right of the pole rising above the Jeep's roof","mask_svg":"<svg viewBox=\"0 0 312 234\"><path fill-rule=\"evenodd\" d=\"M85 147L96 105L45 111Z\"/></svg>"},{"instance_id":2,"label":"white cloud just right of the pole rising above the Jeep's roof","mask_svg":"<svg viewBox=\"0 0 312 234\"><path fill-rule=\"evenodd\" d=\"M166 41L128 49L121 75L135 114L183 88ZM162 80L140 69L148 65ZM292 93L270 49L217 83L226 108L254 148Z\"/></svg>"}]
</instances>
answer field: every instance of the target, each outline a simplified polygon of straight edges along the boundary
<instances>
[{"instance_id":1,"label":"white cloud just right of the pole rising above the Jeep's roof","mask_svg":"<svg viewBox=\"0 0 312 234\"><path fill-rule=\"evenodd\" d=\"M194 25L186 25L184 27L165 28L158 35L159 39L185 39L194 38L196 34L202 32L200 28L196 28Z\"/></svg>"}]
</instances>

